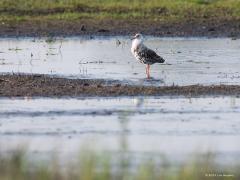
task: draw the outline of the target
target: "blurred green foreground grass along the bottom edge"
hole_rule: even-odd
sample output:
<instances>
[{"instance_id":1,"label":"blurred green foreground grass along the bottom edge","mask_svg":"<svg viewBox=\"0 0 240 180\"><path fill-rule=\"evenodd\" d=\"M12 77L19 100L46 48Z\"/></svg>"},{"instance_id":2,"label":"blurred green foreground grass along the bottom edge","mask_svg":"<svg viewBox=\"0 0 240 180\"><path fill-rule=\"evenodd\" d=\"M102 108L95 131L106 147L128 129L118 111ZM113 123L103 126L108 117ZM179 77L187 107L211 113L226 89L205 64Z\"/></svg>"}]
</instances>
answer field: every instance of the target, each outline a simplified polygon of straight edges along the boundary
<instances>
[{"instance_id":1,"label":"blurred green foreground grass along the bottom edge","mask_svg":"<svg viewBox=\"0 0 240 180\"><path fill-rule=\"evenodd\" d=\"M161 160L161 161L159 161ZM83 180L120 180L120 179L189 179L204 180L209 179L207 175L234 176L234 177L214 177L215 179L239 179L240 172L235 167L219 167L214 162L214 154L196 155L195 160L190 160L181 165L173 165L164 158L154 158L145 160L131 166L128 160L127 166L122 166L116 157L109 154L97 154L93 151L81 151L81 156L77 162L60 165L57 158L53 158L52 163L40 162L40 160L27 160L22 151L13 153L8 157L0 155L0 179L83 179Z\"/></svg>"}]
</instances>

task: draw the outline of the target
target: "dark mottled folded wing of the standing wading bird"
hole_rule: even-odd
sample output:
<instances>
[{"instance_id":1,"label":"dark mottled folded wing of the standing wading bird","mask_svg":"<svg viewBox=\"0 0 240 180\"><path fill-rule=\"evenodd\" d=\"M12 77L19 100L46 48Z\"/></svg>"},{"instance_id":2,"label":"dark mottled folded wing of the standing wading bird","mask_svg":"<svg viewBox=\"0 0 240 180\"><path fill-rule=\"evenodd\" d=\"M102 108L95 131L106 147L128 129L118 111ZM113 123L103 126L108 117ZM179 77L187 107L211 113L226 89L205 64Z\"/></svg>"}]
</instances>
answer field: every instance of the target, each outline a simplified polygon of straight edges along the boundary
<instances>
[{"instance_id":1,"label":"dark mottled folded wing of the standing wading bird","mask_svg":"<svg viewBox=\"0 0 240 180\"><path fill-rule=\"evenodd\" d=\"M164 63L165 61L161 56L157 55L156 52L147 47L142 48L141 51L139 51L138 53L140 57L143 57L146 61L150 63Z\"/></svg>"}]
</instances>

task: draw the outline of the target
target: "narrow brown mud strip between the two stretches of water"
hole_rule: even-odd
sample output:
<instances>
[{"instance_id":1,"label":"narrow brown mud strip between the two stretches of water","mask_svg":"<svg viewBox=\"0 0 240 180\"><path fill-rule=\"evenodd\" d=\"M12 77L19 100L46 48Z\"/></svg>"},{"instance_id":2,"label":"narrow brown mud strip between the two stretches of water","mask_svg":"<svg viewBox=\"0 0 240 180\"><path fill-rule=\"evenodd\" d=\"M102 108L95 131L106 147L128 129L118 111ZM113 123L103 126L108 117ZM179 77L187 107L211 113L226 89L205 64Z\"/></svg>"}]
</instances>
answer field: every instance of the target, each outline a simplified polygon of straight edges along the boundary
<instances>
[{"instance_id":1,"label":"narrow brown mud strip between the two stretches of water","mask_svg":"<svg viewBox=\"0 0 240 180\"><path fill-rule=\"evenodd\" d=\"M240 95L240 86L130 86L93 79L65 79L45 75L1 75L0 96L137 96Z\"/></svg>"}]
</instances>

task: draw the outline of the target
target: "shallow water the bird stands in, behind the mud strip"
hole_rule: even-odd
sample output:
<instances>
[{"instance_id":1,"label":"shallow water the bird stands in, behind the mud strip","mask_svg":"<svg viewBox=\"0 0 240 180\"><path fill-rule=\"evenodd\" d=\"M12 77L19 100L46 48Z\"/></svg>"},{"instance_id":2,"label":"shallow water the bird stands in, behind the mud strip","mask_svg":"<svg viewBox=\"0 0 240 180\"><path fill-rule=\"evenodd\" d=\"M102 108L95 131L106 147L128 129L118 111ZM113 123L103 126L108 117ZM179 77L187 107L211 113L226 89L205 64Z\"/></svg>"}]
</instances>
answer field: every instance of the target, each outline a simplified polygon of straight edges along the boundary
<instances>
[{"instance_id":1,"label":"shallow water the bird stands in, behind the mud strip","mask_svg":"<svg viewBox=\"0 0 240 180\"><path fill-rule=\"evenodd\" d=\"M119 44L120 42L120 44ZM166 63L145 67L130 53L127 37L0 39L0 73L41 73L104 78L144 85L240 84L240 40L154 38L146 45Z\"/></svg>"}]
</instances>

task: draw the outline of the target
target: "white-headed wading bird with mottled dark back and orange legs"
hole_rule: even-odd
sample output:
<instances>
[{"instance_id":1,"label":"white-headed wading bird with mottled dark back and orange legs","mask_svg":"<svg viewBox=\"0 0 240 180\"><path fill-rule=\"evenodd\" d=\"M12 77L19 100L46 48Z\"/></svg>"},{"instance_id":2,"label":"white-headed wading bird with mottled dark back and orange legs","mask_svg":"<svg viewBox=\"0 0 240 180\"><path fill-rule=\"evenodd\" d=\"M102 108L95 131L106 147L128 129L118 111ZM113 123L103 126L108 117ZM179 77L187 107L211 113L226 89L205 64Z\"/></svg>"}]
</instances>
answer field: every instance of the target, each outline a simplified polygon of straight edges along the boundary
<instances>
[{"instance_id":1,"label":"white-headed wading bird with mottled dark back and orange legs","mask_svg":"<svg viewBox=\"0 0 240 180\"><path fill-rule=\"evenodd\" d=\"M143 44L143 36L136 34L132 39L131 52L140 63L146 64L147 78L150 78L150 65L164 63L164 59Z\"/></svg>"}]
</instances>

